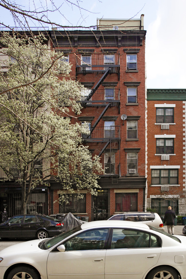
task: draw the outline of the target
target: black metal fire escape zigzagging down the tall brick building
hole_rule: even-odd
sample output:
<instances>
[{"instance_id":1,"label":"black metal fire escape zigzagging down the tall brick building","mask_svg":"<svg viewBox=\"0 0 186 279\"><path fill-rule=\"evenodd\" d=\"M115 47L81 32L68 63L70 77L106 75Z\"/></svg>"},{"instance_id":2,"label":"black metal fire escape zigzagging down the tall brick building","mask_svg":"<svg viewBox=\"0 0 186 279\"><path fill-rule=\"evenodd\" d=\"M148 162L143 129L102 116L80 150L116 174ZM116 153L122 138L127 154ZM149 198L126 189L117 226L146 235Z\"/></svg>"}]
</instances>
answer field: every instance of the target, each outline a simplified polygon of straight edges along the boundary
<instances>
[{"instance_id":1,"label":"black metal fire escape zigzagging down the tall brick building","mask_svg":"<svg viewBox=\"0 0 186 279\"><path fill-rule=\"evenodd\" d=\"M98 59L96 59L96 61L98 61ZM79 74L86 75L92 72L96 72L96 85L94 86L94 88L88 91L84 99L81 101L81 104L84 108L97 107L99 109L99 113L98 117L96 117L96 121L90 127L90 135L88 137L84 137L84 142L100 144L99 147L96 148L96 150L99 151L98 156L101 156L106 148L110 150L110 154L113 152L113 149L117 148L117 150L119 151L118 172L117 174L114 173L114 175L112 175L112 182L117 183L118 177L120 176L120 126L110 126L108 127L108 129L105 129L105 127L100 127L98 123L103 118L105 112L113 106L118 107L118 113L120 113L120 90L113 89L112 94L106 96L104 89L99 89L100 85L109 74L117 74L118 80L120 79L119 59L114 64L107 63L106 65L102 63L95 64L94 62L91 63L91 65L80 65L80 63L76 64L76 77ZM102 111L100 111L101 108ZM108 169L111 169L111 162ZM110 174L108 173L108 175Z\"/></svg>"}]
</instances>

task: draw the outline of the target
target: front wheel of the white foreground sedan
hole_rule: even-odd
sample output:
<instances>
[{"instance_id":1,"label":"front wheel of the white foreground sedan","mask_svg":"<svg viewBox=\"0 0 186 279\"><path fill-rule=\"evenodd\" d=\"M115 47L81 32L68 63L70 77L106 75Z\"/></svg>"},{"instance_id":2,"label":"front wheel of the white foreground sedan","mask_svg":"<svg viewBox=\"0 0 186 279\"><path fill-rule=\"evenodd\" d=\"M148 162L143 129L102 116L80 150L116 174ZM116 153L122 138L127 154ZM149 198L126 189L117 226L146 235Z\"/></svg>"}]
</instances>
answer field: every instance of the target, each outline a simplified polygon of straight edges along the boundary
<instances>
[{"instance_id":1,"label":"front wheel of the white foreground sedan","mask_svg":"<svg viewBox=\"0 0 186 279\"><path fill-rule=\"evenodd\" d=\"M39 279L41 276L30 267L26 266L17 266L11 270L8 274L7 279L14 279L14 278L21 278L21 279Z\"/></svg>"}]
</instances>

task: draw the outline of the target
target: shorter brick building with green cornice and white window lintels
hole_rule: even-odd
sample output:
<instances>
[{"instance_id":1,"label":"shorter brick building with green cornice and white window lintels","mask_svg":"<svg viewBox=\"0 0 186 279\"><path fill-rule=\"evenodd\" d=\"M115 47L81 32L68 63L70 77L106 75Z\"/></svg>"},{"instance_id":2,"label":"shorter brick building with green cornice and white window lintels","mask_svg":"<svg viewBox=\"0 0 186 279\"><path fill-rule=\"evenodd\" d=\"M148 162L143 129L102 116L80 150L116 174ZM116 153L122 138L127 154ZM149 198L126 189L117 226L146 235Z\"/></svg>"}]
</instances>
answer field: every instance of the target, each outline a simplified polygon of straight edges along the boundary
<instances>
[{"instance_id":1,"label":"shorter brick building with green cornice and white window lintels","mask_svg":"<svg viewBox=\"0 0 186 279\"><path fill-rule=\"evenodd\" d=\"M185 213L186 89L147 89L147 208Z\"/></svg>"}]
</instances>

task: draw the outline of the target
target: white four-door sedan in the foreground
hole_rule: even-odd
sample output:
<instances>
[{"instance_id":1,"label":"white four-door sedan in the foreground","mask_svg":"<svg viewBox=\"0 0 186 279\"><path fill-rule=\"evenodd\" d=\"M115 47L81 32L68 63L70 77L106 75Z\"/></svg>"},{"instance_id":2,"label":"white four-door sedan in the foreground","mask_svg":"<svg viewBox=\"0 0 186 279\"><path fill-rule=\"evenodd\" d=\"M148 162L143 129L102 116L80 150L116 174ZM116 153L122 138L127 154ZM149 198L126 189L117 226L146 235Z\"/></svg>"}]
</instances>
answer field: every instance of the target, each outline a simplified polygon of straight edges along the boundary
<instances>
[{"instance_id":1,"label":"white four-door sedan in the foreground","mask_svg":"<svg viewBox=\"0 0 186 279\"><path fill-rule=\"evenodd\" d=\"M84 223L0 251L0 279L186 279L186 238L130 221Z\"/></svg>"}]
</instances>

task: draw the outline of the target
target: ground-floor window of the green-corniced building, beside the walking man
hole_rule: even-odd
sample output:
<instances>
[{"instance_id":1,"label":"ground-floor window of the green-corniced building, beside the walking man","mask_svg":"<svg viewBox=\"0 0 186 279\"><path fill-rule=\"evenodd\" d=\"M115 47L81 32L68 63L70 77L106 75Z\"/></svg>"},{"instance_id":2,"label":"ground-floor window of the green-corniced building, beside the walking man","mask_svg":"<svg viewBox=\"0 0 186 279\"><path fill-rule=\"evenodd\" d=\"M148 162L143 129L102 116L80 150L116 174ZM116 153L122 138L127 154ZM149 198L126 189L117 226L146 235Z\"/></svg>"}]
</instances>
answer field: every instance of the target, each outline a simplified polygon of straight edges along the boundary
<instances>
[{"instance_id":1,"label":"ground-floor window of the green-corniced building, beside the walking man","mask_svg":"<svg viewBox=\"0 0 186 279\"><path fill-rule=\"evenodd\" d=\"M158 214L165 214L167 211L168 206L172 207L172 210L175 211L176 214L178 214L178 200L171 200L171 199L162 199L162 198L155 198L151 199L151 208L155 208L157 210Z\"/></svg>"}]
</instances>

